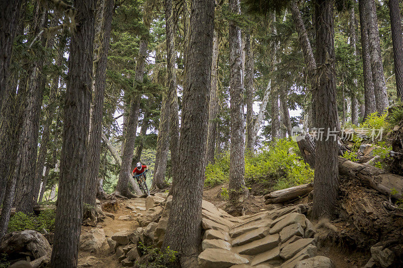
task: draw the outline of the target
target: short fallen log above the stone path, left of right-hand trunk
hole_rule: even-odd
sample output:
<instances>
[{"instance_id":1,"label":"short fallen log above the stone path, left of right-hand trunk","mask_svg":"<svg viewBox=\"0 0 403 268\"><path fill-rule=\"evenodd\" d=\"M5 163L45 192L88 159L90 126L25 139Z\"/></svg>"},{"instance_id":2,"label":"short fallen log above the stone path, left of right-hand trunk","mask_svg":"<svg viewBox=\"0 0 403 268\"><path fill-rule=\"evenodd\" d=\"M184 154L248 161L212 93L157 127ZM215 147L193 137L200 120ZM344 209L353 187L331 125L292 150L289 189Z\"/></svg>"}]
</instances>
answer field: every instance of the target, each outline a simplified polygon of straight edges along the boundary
<instances>
[{"instance_id":1,"label":"short fallen log above the stone path, left of right-hand trunk","mask_svg":"<svg viewBox=\"0 0 403 268\"><path fill-rule=\"evenodd\" d=\"M283 203L299 197L308 195L313 190L313 184L298 185L291 188L274 191L264 196L267 204Z\"/></svg>"}]
</instances>

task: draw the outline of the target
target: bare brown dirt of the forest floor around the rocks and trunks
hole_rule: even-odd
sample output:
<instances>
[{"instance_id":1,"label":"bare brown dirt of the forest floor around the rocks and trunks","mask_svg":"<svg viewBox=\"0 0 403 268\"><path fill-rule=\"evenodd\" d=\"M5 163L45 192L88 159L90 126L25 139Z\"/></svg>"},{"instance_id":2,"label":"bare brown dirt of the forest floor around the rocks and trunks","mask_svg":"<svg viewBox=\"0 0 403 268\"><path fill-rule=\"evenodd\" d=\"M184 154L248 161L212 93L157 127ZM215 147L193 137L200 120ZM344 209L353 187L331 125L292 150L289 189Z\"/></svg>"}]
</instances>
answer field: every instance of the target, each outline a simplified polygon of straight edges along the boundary
<instances>
[{"instance_id":1,"label":"bare brown dirt of the forest floor around the rocks and trunks","mask_svg":"<svg viewBox=\"0 0 403 268\"><path fill-rule=\"evenodd\" d=\"M231 206L221 195L222 189L228 188L228 185L219 185L215 187L206 188L204 191L204 200L213 203L218 208L223 210L231 210ZM139 223L136 220L140 215L146 214L145 198L134 198L128 200L121 200L115 207L115 210L109 212L114 214L114 218L106 217L103 222L99 222L96 228L102 228L107 237L111 237L114 233L124 230L135 230L139 227ZM300 200L298 203L308 203L308 198ZM242 203L242 213L245 215L255 214L264 210L272 210L280 207L280 205L265 205L263 196L249 196ZM121 216L131 216L131 220L119 219ZM308 217L309 218L309 217ZM311 220L315 225L317 222ZM334 222L333 223L340 231L343 232L346 227L346 222ZM94 228L93 226L83 226L82 234L85 234ZM318 255L324 255L331 258L336 267L362 267L370 258L370 254L360 251L352 251L343 249L340 241L335 241L334 236L329 235L327 228L318 228L317 232L321 237L320 246L318 246ZM95 253L89 253L80 251L79 258L85 258L89 255L95 256L103 264L97 265L97 267L117 268L121 267L116 254L112 252L107 243L103 245L101 250Z\"/></svg>"}]
</instances>

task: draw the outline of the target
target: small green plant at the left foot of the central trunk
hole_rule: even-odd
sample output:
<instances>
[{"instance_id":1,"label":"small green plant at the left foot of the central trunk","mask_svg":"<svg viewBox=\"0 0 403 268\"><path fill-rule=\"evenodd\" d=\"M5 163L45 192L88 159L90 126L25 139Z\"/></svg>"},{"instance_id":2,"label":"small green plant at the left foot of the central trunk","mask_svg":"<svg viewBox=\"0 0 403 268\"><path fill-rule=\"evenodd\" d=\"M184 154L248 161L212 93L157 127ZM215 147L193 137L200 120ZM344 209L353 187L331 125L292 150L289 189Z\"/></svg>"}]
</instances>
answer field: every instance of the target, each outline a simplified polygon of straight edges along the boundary
<instances>
[{"instance_id":1,"label":"small green plant at the left foot of the central trunk","mask_svg":"<svg viewBox=\"0 0 403 268\"><path fill-rule=\"evenodd\" d=\"M140 242L139 247L144 251L145 258L136 261L139 268L165 268L177 261L177 251L146 246Z\"/></svg>"}]
</instances>

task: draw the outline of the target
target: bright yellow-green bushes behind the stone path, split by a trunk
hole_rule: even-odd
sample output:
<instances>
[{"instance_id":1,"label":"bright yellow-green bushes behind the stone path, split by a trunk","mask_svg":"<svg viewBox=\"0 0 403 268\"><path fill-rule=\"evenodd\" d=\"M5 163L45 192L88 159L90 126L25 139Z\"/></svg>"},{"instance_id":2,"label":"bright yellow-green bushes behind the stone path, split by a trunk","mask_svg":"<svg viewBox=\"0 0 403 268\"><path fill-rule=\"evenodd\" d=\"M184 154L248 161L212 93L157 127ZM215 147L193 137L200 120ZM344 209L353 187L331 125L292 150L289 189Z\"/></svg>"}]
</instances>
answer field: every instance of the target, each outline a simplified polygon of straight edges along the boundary
<instances>
[{"instance_id":1,"label":"bright yellow-green bushes behind the stone path, split by a trunk","mask_svg":"<svg viewBox=\"0 0 403 268\"><path fill-rule=\"evenodd\" d=\"M245 156L245 181L247 184L262 183L274 190L310 183L313 181L313 169L296 153L289 153L291 148L298 148L294 141L278 139L265 145L254 155ZM229 153L206 167L206 186L214 186L228 181Z\"/></svg>"}]
</instances>

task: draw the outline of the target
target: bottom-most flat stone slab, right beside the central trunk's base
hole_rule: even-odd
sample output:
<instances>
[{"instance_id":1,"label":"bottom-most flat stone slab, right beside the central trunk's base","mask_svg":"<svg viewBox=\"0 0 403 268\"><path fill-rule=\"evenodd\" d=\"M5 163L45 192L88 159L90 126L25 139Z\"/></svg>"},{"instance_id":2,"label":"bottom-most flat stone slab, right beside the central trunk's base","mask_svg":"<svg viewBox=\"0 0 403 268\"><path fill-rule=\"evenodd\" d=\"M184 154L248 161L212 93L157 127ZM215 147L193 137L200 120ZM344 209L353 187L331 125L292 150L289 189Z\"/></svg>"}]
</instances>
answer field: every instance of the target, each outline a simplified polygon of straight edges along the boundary
<instances>
[{"instance_id":1,"label":"bottom-most flat stone slab, right beside the central trunk's base","mask_svg":"<svg viewBox=\"0 0 403 268\"><path fill-rule=\"evenodd\" d=\"M205 249L198 255L197 260L204 268L227 268L235 264L249 263L247 258L221 248Z\"/></svg>"}]
</instances>

